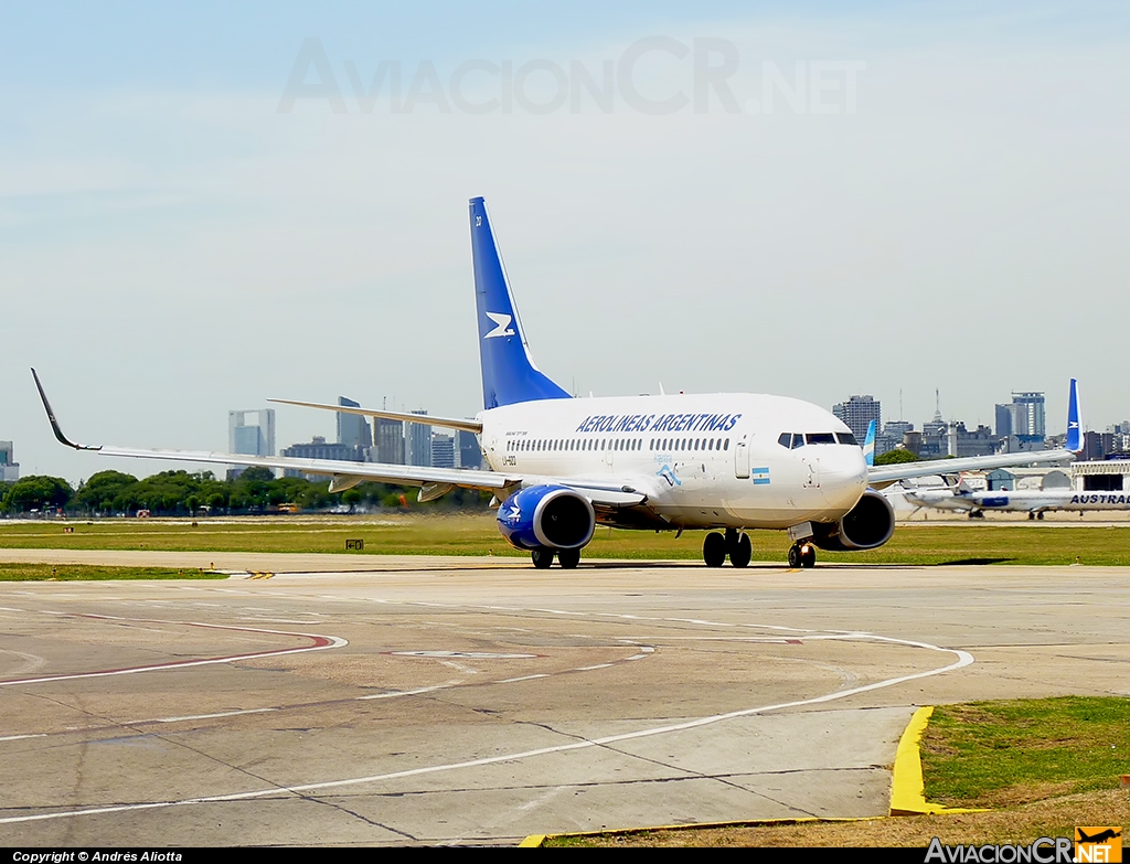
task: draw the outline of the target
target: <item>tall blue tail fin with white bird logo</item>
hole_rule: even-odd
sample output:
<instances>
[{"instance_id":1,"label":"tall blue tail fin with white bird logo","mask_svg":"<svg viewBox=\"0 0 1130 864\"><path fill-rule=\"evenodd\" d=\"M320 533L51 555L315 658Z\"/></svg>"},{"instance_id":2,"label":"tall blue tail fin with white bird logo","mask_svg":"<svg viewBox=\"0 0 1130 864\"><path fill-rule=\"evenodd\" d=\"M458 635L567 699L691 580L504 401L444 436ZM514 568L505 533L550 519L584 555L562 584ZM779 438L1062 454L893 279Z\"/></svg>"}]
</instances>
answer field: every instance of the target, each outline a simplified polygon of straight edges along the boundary
<instances>
[{"instance_id":1,"label":"tall blue tail fin with white bird logo","mask_svg":"<svg viewBox=\"0 0 1130 864\"><path fill-rule=\"evenodd\" d=\"M479 317L483 407L498 408L570 394L542 375L530 358L522 322L498 254L486 202L471 199L471 260L475 306Z\"/></svg>"}]
</instances>

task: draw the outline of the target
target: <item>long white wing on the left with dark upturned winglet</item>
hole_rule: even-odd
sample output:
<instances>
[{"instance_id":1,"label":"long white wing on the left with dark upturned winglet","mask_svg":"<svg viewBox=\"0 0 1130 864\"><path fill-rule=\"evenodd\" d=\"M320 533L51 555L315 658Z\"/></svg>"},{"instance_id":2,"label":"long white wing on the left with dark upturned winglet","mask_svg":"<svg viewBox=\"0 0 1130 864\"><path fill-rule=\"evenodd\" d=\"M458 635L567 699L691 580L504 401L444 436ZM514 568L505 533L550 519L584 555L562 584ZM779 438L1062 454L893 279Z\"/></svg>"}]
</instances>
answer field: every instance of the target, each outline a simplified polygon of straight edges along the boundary
<instances>
[{"instance_id":1,"label":"long white wing on the left with dark upturned winglet","mask_svg":"<svg viewBox=\"0 0 1130 864\"><path fill-rule=\"evenodd\" d=\"M348 462L328 459L296 459L293 456L252 456L243 453L217 453L192 450L159 450L146 447L119 447L108 444L76 444L63 435L55 419L47 395L40 383L40 376L32 369L40 399L47 412L51 430L60 444L75 450L87 450L103 456L127 456L130 459L159 459L175 462L202 462L214 465L247 465L249 468L278 468L302 471L306 474L330 477L330 491L338 492L363 482L395 483L420 487L420 500L438 498L454 487L481 489L495 492L499 498L522 487L541 483L559 483L576 489L594 505L606 507L631 507L643 504L647 496L631 486L609 485L607 478L600 481L584 479L559 479L532 474L502 473L469 469L423 468L419 465L395 465L382 462Z\"/></svg>"}]
</instances>

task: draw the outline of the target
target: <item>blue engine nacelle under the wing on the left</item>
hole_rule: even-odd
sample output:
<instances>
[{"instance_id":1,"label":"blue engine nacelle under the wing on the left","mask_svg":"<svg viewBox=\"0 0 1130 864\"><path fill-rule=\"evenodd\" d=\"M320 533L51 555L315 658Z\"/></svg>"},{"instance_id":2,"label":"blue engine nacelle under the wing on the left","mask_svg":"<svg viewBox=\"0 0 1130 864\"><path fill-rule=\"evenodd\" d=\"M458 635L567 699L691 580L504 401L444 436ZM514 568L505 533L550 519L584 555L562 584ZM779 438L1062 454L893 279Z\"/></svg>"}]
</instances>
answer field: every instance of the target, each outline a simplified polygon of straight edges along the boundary
<instances>
[{"instance_id":1,"label":"blue engine nacelle under the wing on the left","mask_svg":"<svg viewBox=\"0 0 1130 864\"><path fill-rule=\"evenodd\" d=\"M592 503L565 486L531 486L498 508L498 531L516 549L580 549L592 540Z\"/></svg>"}]
</instances>

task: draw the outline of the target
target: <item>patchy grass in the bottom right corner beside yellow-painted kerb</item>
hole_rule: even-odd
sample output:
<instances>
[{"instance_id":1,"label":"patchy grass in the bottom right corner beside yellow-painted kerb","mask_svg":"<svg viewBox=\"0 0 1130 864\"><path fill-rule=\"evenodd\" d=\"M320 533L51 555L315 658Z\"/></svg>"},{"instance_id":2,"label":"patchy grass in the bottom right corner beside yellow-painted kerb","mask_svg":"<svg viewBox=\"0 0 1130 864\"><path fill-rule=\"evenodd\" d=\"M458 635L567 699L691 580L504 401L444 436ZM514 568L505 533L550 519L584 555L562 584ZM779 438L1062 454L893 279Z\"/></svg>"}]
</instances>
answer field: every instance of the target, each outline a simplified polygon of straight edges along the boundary
<instances>
[{"instance_id":1,"label":"patchy grass in the bottom right corner beside yellow-painted kerb","mask_svg":"<svg viewBox=\"0 0 1130 864\"><path fill-rule=\"evenodd\" d=\"M562 837L549 846L1022 844L1075 826L1130 824L1130 699L1061 697L935 709L922 740L928 801L991 812Z\"/></svg>"}]
</instances>

